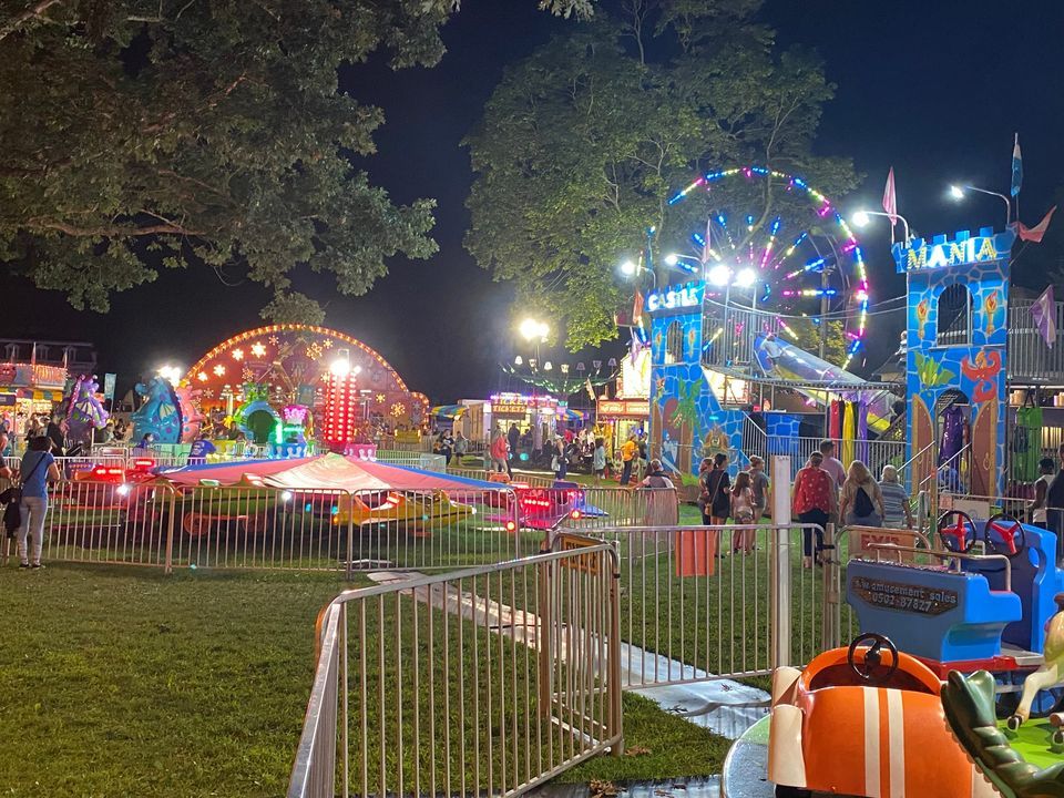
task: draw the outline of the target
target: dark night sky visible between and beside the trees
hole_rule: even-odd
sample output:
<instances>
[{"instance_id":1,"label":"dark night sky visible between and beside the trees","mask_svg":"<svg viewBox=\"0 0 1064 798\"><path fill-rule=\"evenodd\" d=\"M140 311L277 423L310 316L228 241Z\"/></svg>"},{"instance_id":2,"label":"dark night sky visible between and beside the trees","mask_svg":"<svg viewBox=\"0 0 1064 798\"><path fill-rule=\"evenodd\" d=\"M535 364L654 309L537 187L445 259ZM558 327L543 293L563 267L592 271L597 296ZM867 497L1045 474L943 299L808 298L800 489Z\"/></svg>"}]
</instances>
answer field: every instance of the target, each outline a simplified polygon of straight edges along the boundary
<instances>
[{"instance_id":1,"label":"dark night sky visible between and beside the trees","mask_svg":"<svg viewBox=\"0 0 1064 798\"><path fill-rule=\"evenodd\" d=\"M345 88L387 116L377 133L379 153L362 165L397 202L437 198L440 252L426 262L392 259L389 276L365 297L331 295L331 282L316 276L297 277L296 287L328 303L326 325L378 349L433 401L502 387L498 362L512 356L511 294L462 248L471 175L459 141L503 66L573 24L535 7L535 0L466 0L444 29L449 52L436 69L391 72L371 63L341 74ZM1000 201L958 206L944 190L963 181L1006 191L1014 131L1024 155L1026 224L1041 218L1064 184L1057 50L1064 3L769 0L763 16L780 42L817 48L838 84L818 150L851 155L867 174L843 208L878 208L893 165L899 209L921 233L1001 226ZM901 294L886 225L867 231L863 241L873 299ZM106 316L71 310L58 294L25 284L6 294L0 331L92 340L101 370L117 370L120 386L164 361L191 365L223 338L257 325L268 300L265 289L226 287L209 269L165 273L116 296ZM881 351L870 352L869 366L897 341L897 330L883 328L889 324L871 327ZM880 330L890 335L877 336Z\"/></svg>"}]
</instances>

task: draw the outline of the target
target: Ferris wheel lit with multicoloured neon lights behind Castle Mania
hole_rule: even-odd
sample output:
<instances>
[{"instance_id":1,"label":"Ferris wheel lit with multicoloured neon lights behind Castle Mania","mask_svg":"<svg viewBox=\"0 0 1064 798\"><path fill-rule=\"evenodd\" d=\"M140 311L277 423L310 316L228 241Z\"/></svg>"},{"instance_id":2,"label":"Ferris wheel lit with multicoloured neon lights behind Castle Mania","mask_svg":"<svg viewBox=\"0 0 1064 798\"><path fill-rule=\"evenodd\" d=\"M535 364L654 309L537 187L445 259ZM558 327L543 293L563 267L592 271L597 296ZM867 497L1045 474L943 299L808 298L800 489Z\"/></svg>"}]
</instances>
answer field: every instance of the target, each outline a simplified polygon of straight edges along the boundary
<instances>
[{"instance_id":1,"label":"Ferris wheel lit with multicoloured neon lights behind Castle Mania","mask_svg":"<svg viewBox=\"0 0 1064 798\"><path fill-rule=\"evenodd\" d=\"M782 316L779 327L791 338L788 317L842 321L848 342L839 365L850 364L864 342L868 273L860 243L831 200L800 177L745 166L709 172L668 204L681 214L681 228L695 231L693 254L671 265L703 273L708 299L719 301L725 291L715 284L732 280L733 306L765 311L766 331L769 319Z\"/></svg>"}]
</instances>

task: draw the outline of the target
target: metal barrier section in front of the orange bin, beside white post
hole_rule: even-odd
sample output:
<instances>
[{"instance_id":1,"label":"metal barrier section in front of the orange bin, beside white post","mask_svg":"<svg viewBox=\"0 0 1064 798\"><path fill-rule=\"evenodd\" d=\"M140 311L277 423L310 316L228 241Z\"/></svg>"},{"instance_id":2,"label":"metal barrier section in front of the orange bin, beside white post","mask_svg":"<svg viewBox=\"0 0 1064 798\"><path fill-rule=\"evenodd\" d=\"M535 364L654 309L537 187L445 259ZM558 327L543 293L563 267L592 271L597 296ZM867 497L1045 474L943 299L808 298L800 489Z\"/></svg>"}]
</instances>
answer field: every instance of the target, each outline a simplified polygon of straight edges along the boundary
<instances>
[{"instance_id":1,"label":"metal barrier section in front of the orange bin, beside white post","mask_svg":"<svg viewBox=\"0 0 1064 798\"><path fill-rule=\"evenodd\" d=\"M586 530L618 551L624 687L767 675L822 651L825 580L802 567L807 532L823 534L799 523Z\"/></svg>"}]
</instances>

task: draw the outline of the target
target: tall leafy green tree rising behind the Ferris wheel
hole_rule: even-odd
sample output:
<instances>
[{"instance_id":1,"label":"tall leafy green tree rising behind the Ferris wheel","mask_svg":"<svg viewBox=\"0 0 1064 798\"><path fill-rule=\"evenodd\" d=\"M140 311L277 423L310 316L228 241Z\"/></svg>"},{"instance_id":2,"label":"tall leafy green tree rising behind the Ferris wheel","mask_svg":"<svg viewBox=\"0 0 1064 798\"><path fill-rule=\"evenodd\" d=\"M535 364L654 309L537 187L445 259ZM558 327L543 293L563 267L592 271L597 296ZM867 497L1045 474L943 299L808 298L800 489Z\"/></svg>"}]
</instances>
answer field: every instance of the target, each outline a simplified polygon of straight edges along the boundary
<instances>
[{"instance_id":1,"label":"tall leafy green tree rising behind the Ferris wheel","mask_svg":"<svg viewBox=\"0 0 1064 798\"><path fill-rule=\"evenodd\" d=\"M632 288L615 268L645 231L674 247L705 218L704 202L667 203L696 174L755 163L831 193L856 182L849 161L812 153L833 95L819 59L778 52L758 0L622 4L508 70L467 137L467 247L573 350L616 335ZM767 192L754 226L780 202Z\"/></svg>"}]
</instances>

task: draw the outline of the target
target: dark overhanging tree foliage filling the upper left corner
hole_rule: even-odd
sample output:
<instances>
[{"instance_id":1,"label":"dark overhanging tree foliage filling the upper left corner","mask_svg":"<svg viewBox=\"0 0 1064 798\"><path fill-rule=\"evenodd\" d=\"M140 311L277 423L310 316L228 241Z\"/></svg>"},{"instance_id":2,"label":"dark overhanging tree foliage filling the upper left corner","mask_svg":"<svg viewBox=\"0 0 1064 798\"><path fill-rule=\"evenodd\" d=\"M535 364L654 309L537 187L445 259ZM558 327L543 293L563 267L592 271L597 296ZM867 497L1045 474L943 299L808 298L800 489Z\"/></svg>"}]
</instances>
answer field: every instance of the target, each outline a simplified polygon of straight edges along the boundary
<instances>
[{"instance_id":1,"label":"dark overhanging tree foliage filling the upper left corner","mask_svg":"<svg viewBox=\"0 0 1064 798\"><path fill-rule=\"evenodd\" d=\"M549 0L569 16L589 0ZM337 91L379 49L443 54L457 0L31 0L0 11L0 259L78 308L158 268L244 268L268 310L320 317L298 266L364 294L424 258L431 200L351 166L381 112ZM276 316L276 314L275 314Z\"/></svg>"}]
</instances>

